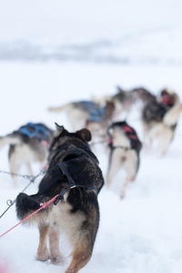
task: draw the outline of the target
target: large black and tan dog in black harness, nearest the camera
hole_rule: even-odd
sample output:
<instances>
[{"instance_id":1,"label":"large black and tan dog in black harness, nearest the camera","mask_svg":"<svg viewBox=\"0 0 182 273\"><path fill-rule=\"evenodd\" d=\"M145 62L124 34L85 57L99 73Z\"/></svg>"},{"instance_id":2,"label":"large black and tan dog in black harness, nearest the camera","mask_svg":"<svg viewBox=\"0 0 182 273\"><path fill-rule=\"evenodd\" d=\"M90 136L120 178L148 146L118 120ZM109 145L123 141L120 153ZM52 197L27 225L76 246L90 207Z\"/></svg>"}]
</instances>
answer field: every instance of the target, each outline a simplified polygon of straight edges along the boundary
<instances>
[{"instance_id":1,"label":"large black and tan dog in black harness, nearest the camera","mask_svg":"<svg viewBox=\"0 0 182 273\"><path fill-rule=\"evenodd\" d=\"M28 221L37 223L39 228L38 260L50 258L53 264L61 263L59 234L60 231L66 233L73 247L72 261L66 273L76 273L86 266L99 224L97 194L104 179L98 160L87 144L90 140L91 134L86 128L69 133L64 126L56 125L56 136L48 157L49 167L38 192L32 196L20 193L16 198L17 217L23 219L39 208L40 203L59 194L54 205L50 204ZM50 252L46 247L47 237Z\"/></svg>"}]
</instances>

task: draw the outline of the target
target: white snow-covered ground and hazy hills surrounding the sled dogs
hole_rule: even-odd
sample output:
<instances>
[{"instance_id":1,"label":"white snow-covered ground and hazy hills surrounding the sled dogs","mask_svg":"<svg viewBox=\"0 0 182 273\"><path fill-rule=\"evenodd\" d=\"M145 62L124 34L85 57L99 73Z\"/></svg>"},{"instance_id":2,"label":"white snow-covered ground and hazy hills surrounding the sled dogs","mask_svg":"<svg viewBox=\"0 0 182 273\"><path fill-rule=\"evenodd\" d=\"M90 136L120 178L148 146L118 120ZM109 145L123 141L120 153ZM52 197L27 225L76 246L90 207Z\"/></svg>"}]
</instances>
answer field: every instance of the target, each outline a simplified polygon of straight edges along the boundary
<instances>
[{"instance_id":1,"label":"white snow-covered ground and hazy hills surrounding the sled dogs","mask_svg":"<svg viewBox=\"0 0 182 273\"><path fill-rule=\"evenodd\" d=\"M0 1L0 136L28 121L70 129L65 114L48 106L112 95L116 86L144 86L158 94L181 91L181 7L177 0ZM143 139L138 109L128 118ZM125 174L99 194L100 226L86 273L181 273L182 270L182 116L167 155L142 150L136 181L118 197ZM8 171L8 147L0 151L0 170ZM106 177L108 158L95 148ZM34 166L35 175L39 172ZM26 174L26 169L21 170ZM0 173L1 210L28 184ZM28 187L36 192L40 177ZM17 223L15 206L0 218L0 234ZM0 238L0 273L65 272L70 246L61 237L62 267L35 260L36 227L20 225Z\"/></svg>"}]
</instances>

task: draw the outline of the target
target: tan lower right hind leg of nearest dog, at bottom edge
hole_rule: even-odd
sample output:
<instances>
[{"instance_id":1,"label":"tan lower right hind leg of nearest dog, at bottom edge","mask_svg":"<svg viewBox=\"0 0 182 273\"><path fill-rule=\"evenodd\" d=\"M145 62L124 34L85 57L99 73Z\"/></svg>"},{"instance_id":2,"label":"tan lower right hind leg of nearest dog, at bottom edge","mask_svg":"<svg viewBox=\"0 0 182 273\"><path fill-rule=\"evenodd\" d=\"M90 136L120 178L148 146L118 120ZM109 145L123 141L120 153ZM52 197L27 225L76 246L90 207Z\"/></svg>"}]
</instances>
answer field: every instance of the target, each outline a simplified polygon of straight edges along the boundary
<instances>
[{"instance_id":1,"label":"tan lower right hind leg of nearest dog, at bottom edge","mask_svg":"<svg viewBox=\"0 0 182 273\"><path fill-rule=\"evenodd\" d=\"M85 244L77 243L76 248L72 252L72 261L66 269L66 273L77 273L84 268L91 258L92 249Z\"/></svg>"}]
</instances>

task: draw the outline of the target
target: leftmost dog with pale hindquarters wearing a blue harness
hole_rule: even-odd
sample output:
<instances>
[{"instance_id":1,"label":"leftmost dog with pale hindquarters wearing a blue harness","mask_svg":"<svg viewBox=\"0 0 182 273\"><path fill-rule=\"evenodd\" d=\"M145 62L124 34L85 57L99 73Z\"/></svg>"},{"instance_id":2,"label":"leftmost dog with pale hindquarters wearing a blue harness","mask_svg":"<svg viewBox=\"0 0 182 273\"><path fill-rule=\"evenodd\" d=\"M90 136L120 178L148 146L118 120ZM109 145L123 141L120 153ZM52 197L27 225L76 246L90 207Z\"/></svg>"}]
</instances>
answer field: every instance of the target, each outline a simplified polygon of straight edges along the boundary
<instances>
[{"instance_id":1,"label":"leftmost dog with pale hindquarters wearing a blue harness","mask_svg":"<svg viewBox=\"0 0 182 273\"><path fill-rule=\"evenodd\" d=\"M28 123L13 133L0 137L0 148L9 147L9 166L16 184L16 176L25 164L29 174L33 174L32 162L39 162L40 167L45 166L48 149L52 142L54 131L42 123Z\"/></svg>"}]
</instances>

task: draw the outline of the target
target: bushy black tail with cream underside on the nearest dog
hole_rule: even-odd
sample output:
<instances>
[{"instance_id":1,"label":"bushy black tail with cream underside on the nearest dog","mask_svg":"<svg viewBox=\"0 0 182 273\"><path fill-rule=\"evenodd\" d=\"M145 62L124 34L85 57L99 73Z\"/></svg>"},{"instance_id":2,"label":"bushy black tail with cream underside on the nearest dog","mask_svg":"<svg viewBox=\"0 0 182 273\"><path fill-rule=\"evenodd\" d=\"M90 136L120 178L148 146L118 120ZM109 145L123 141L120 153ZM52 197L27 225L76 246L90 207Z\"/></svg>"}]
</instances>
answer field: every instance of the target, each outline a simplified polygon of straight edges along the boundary
<instances>
[{"instance_id":1,"label":"bushy black tail with cream underside on the nearest dog","mask_svg":"<svg viewBox=\"0 0 182 273\"><path fill-rule=\"evenodd\" d=\"M35 210L41 207L40 201L41 197L37 195L27 196L25 193L20 193L16 197L16 216L18 219L23 220L25 217L31 215ZM47 209L43 208L38 213L36 213L33 217L30 217L28 221L25 223L33 224L43 222L43 218L45 221Z\"/></svg>"}]
</instances>

